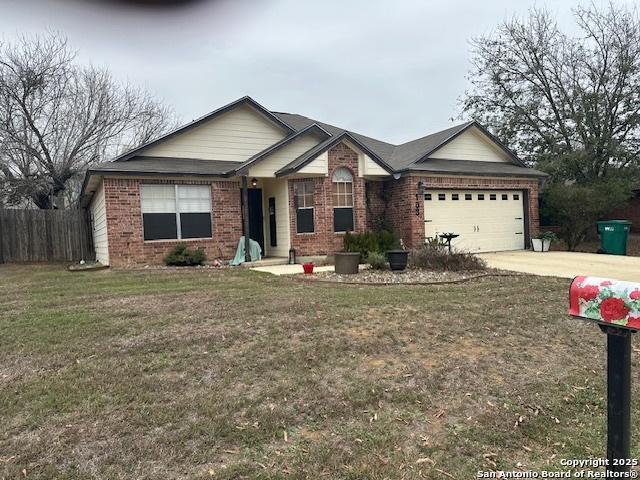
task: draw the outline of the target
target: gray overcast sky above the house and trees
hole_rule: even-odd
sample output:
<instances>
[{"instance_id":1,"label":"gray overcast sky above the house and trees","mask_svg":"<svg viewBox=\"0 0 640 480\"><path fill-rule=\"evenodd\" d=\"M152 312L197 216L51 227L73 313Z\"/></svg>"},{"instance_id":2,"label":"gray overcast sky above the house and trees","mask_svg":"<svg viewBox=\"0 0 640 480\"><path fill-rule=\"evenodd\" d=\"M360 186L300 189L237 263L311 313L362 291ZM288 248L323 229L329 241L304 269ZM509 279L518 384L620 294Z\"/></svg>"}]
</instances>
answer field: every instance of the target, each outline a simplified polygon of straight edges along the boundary
<instances>
[{"instance_id":1,"label":"gray overcast sky above the house and trees","mask_svg":"<svg viewBox=\"0 0 640 480\"><path fill-rule=\"evenodd\" d=\"M152 3L148 1L148 3ZM538 1L573 31L576 0ZM0 0L5 40L64 33L79 59L145 86L183 121L243 95L390 142L450 125L469 39L527 0L201 0L149 8Z\"/></svg>"}]
</instances>

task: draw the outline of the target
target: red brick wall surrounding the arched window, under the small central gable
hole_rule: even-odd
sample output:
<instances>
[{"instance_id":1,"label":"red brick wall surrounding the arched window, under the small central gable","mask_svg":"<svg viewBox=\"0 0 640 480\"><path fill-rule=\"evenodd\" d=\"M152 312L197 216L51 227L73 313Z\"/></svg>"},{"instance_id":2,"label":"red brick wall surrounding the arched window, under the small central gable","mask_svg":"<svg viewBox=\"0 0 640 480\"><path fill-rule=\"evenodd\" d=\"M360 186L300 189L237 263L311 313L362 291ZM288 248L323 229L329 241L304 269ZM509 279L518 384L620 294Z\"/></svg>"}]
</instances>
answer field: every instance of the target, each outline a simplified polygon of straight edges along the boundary
<instances>
[{"instance_id":1,"label":"red brick wall surrounding the arched window, under the small central gable","mask_svg":"<svg viewBox=\"0 0 640 480\"><path fill-rule=\"evenodd\" d=\"M346 167L353 175L353 214L354 231L362 232L367 228L365 202L365 181L358 176L358 155L345 144L340 143L329 150L329 175L289 181L289 212L291 246L298 255L327 255L339 252L343 248L342 233L333 231L333 172L336 168ZM314 182L314 233L297 233L294 185L296 182Z\"/></svg>"}]
</instances>

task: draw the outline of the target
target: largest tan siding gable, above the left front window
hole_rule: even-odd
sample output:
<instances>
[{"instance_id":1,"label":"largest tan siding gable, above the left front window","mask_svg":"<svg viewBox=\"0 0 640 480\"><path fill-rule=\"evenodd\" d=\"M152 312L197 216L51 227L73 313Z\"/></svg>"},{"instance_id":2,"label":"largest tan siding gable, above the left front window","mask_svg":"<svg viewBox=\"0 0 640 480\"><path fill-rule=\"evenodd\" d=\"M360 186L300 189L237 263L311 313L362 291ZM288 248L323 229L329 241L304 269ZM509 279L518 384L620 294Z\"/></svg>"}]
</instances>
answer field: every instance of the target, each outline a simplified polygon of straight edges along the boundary
<instances>
[{"instance_id":1,"label":"largest tan siding gable, above the left front window","mask_svg":"<svg viewBox=\"0 0 640 480\"><path fill-rule=\"evenodd\" d=\"M139 155L243 162L285 137L285 131L242 105L159 142Z\"/></svg>"}]
</instances>

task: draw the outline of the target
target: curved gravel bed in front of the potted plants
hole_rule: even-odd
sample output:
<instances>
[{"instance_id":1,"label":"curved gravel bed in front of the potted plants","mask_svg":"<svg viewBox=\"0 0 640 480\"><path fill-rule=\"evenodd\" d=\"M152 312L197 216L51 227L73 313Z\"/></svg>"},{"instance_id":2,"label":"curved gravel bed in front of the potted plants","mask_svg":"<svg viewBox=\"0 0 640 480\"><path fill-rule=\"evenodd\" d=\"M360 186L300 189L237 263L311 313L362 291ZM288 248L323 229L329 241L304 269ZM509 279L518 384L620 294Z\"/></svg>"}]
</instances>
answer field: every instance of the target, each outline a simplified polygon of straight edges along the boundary
<instances>
[{"instance_id":1,"label":"curved gravel bed in front of the potted plants","mask_svg":"<svg viewBox=\"0 0 640 480\"><path fill-rule=\"evenodd\" d=\"M305 275L304 278L315 281L364 284L439 283L458 282L468 278L485 275L487 273L495 272L434 272L429 270L405 270L404 272L392 272L390 270L362 270L353 275L341 275L335 272L318 272L313 275Z\"/></svg>"}]
</instances>

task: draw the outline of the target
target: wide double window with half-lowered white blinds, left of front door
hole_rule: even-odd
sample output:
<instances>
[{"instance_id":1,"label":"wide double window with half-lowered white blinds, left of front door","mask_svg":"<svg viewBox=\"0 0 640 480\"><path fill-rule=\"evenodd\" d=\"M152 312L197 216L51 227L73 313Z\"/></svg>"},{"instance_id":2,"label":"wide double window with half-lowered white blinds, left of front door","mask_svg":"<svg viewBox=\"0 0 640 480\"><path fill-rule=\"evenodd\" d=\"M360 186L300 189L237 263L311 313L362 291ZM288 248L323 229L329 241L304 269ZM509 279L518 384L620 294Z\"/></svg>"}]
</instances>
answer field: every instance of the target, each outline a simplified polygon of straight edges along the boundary
<instances>
[{"instance_id":1,"label":"wide double window with half-lowered white blinds, left of front door","mask_svg":"<svg viewBox=\"0 0 640 480\"><path fill-rule=\"evenodd\" d=\"M145 240L211 238L208 185L140 185Z\"/></svg>"}]
</instances>

